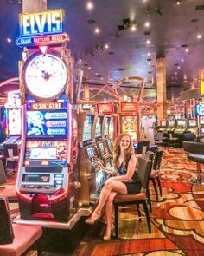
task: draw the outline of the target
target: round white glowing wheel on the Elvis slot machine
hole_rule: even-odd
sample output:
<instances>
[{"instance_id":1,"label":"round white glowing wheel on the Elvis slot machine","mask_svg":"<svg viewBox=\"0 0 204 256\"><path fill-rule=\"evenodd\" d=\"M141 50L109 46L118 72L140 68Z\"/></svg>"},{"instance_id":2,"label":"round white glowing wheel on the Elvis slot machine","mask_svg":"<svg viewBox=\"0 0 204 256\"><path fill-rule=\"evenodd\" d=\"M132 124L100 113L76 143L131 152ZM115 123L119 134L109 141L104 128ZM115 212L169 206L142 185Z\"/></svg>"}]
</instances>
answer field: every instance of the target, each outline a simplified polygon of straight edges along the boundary
<instances>
[{"instance_id":1,"label":"round white glowing wheel on the Elvis slot machine","mask_svg":"<svg viewBox=\"0 0 204 256\"><path fill-rule=\"evenodd\" d=\"M26 60L22 68L22 82L37 100L50 101L57 98L67 85L68 70L60 56L35 53Z\"/></svg>"}]
</instances>

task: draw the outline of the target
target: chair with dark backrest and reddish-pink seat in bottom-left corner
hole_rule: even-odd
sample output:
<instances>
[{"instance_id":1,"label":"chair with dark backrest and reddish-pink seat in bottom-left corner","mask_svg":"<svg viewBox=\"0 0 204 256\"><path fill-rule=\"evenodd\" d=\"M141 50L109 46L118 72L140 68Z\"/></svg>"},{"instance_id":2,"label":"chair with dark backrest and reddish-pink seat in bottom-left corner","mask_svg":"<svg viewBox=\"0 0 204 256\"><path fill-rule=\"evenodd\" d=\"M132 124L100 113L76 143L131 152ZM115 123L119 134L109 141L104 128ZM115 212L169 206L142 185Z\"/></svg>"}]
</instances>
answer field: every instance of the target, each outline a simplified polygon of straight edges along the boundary
<instances>
[{"instance_id":1,"label":"chair with dark backrest and reddish-pink seat in bottom-left corner","mask_svg":"<svg viewBox=\"0 0 204 256\"><path fill-rule=\"evenodd\" d=\"M0 223L0 255L26 255L32 249L41 255L41 226L12 224L6 197L0 198Z\"/></svg>"}]
</instances>

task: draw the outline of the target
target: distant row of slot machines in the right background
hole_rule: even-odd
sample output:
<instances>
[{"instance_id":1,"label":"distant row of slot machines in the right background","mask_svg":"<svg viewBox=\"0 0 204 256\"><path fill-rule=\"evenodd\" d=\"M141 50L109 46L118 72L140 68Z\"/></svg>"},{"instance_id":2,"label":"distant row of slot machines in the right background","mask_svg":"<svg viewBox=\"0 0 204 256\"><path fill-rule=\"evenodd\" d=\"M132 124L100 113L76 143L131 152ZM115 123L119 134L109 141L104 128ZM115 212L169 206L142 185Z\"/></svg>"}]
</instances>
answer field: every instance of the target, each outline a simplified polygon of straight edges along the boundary
<instances>
[{"instance_id":1,"label":"distant row of slot machines in the right background","mask_svg":"<svg viewBox=\"0 0 204 256\"><path fill-rule=\"evenodd\" d=\"M174 132L177 135L182 135L185 132L190 132L194 136L204 135L204 119L200 119L200 124L196 119L171 119L162 120L160 126L157 127L157 131L161 131L164 134L168 132Z\"/></svg>"}]
</instances>

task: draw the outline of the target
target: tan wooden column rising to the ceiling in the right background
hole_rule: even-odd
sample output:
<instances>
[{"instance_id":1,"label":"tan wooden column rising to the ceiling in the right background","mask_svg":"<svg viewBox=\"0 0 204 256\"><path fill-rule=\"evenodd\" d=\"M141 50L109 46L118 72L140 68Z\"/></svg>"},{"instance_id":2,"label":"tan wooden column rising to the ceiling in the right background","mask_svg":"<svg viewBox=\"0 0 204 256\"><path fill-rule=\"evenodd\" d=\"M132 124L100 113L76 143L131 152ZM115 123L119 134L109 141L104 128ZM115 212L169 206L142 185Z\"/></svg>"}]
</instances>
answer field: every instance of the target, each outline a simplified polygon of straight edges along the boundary
<instances>
[{"instance_id":1,"label":"tan wooden column rising to the ceiling in the right background","mask_svg":"<svg viewBox=\"0 0 204 256\"><path fill-rule=\"evenodd\" d=\"M156 59L157 121L167 118L166 59Z\"/></svg>"}]
</instances>

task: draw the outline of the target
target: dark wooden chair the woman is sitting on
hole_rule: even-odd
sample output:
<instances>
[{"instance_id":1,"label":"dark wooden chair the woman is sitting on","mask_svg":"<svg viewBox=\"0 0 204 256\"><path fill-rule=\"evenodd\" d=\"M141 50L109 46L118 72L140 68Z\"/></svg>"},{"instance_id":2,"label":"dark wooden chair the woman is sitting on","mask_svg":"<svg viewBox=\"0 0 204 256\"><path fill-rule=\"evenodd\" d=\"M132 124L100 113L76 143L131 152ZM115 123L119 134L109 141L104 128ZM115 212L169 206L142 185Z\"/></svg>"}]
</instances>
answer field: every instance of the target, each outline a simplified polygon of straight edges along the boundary
<instances>
[{"instance_id":1,"label":"dark wooden chair the woman is sitting on","mask_svg":"<svg viewBox=\"0 0 204 256\"><path fill-rule=\"evenodd\" d=\"M150 214L147 207L147 188L149 186L150 181L150 174L151 174L151 167L152 167L152 161L145 160L144 158L138 159L138 169L137 174L140 178L140 181L142 182L142 188L141 192L139 194L117 194L114 199L114 207L115 207L115 233L116 237L118 237L118 213L119 213L119 207L127 207L132 205L137 207L138 212L138 218L139 221L141 221L142 218L142 211L140 209L140 205L143 205L143 210L145 215L148 230L149 233L151 233L151 226L150 226Z\"/></svg>"}]
</instances>

